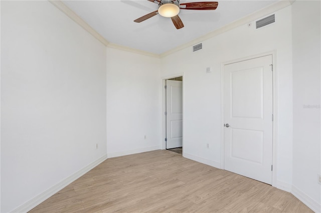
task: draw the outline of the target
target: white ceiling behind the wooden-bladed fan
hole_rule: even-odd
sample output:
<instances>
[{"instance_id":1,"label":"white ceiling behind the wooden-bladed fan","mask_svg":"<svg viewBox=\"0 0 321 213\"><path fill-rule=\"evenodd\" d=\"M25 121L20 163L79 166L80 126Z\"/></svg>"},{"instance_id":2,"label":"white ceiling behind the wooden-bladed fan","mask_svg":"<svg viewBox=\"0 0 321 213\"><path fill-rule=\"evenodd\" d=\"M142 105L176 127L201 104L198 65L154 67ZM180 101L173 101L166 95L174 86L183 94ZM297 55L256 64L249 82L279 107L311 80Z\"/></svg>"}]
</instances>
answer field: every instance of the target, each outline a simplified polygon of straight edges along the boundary
<instances>
[{"instance_id":1,"label":"white ceiling behind the wooden-bladed fan","mask_svg":"<svg viewBox=\"0 0 321 213\"><path fill-rule=\"evenodd\" d=\"M209 0L181 0L183 2ZM133 20L157 10L148 0L63 0L106 40L155 54L218 29L278 0L218 0L216 10L181 9L185 27L176 29L171 18L155 15L145 21Z\"/></svg>"}]
</instances>

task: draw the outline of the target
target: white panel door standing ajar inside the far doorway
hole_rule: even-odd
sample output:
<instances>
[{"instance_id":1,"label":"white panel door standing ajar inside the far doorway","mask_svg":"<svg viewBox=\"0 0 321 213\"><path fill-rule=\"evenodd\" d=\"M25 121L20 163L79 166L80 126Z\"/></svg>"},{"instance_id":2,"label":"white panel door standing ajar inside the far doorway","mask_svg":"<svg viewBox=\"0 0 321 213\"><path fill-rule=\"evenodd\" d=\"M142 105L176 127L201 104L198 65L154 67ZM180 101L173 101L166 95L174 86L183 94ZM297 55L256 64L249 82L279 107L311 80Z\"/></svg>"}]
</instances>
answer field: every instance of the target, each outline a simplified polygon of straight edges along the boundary
<instances>
[{"instance_id":1,"label":"white panel door standing ajar inside the far doorway","mask_svg":"<svg viewBox=\"0 0 321 213\"><path fill-rule=\"evenodd\" d=\"M166 80L166 148L183 146L183 81Z\"/></svg>"}]
</instances>

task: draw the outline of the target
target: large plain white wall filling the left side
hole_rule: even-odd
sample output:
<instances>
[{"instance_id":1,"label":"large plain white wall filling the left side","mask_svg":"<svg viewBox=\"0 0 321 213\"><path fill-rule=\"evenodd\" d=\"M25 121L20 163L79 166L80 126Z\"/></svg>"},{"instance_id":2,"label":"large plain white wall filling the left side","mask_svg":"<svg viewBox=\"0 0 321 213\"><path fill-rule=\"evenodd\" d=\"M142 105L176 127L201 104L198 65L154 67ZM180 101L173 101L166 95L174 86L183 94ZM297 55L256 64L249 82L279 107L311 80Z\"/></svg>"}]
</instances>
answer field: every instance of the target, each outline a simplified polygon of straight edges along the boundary
<instances>
[{"instance_id":1,"label":"large plain white wall filling the left side","mask_svg":"<svg viewBox=\"0 0 321 213\"><path fill-rule=\"evenodd\" d=\"M1 2L1 212L106 154L105 49L49 1Z\"/></svg>"}]
</instances>

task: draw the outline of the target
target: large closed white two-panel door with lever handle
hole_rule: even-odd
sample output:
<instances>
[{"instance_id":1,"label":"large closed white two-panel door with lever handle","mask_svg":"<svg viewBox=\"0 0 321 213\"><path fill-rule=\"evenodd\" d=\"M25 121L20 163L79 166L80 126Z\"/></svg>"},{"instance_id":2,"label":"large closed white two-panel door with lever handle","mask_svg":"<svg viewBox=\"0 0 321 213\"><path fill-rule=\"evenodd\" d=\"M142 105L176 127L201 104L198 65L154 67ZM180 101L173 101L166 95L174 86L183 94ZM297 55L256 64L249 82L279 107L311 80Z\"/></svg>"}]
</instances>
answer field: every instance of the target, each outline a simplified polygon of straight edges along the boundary
<instances>
[{"instance_id":1,"label":"large closed white two-panel door with lever handle","mask_svg":"<svg viewBox=\"0 0 321 213\"><path fill-rule=\"evenodd\" d=\"M226 170L272 184L272 55L224 66Z\"/></svg>"}]
</instances>

